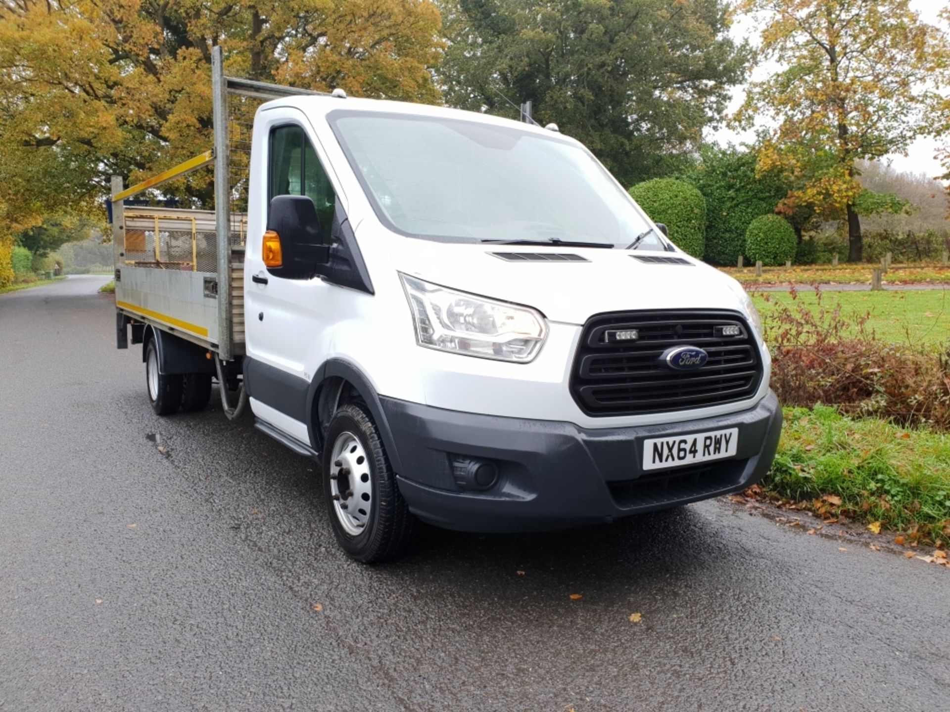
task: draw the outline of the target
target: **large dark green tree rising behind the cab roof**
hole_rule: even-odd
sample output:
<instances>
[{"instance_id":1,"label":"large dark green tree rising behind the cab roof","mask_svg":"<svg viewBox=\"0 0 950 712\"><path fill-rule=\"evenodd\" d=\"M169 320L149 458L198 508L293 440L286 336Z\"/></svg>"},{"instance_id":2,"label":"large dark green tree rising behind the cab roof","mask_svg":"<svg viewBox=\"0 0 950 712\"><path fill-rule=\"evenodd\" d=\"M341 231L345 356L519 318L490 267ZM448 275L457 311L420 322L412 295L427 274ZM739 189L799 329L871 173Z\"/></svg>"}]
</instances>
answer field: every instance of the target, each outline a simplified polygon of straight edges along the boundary
<instances>
[{"instance_id":1,"label":"large dark green tree rising behind the cab roof","mask_svg":"<svg viewBox=\"0 0 950 712\"><path fill-rule=\"evenodd\" d=\"M583 141L625 185L669 174L744 79L724 0L438 0L447 103Z\"/></svg>"}]
</instances>

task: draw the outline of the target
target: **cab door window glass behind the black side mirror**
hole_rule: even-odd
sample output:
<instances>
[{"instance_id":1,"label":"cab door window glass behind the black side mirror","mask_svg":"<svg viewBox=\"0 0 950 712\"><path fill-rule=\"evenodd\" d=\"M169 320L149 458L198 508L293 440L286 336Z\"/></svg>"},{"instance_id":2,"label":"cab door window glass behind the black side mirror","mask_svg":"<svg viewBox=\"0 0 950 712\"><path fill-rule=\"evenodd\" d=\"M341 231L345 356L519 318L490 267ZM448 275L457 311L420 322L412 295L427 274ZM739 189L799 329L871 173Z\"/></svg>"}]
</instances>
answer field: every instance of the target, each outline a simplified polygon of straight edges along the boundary
<instances>
[{"instance_id":1,"label":"cab door window glass behind the black side mirror","mask_svg":"<svg viewBox=\"0 0 950 712\"><path fill-rule=\"evenodd\" d=\"M294 124L271 130L267 203L275 196L307 196L314 201L320 237L330 242L335 194L303 128Z\"/></svg>"}]
</instances>

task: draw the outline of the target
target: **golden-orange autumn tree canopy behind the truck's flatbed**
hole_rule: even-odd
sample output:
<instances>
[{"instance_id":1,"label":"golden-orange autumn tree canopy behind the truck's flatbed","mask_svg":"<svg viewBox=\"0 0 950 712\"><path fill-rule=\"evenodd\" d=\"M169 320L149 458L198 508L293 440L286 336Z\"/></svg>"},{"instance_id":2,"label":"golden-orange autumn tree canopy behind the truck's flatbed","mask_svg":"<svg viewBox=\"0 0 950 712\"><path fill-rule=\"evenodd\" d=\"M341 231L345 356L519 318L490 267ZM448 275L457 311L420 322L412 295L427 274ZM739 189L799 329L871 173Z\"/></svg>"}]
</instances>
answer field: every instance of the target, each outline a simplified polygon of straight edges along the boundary
<instances>
[{"instance_id":1,"label":"golden-orange autumn tree canopy behind the truck's flatbed","mask_svg":"<svg viewBox=\"0 0 950 712\"><path fill-rule=\"evenodd\" d=\"M237 76L433 102L440 27L428 0L0 0L0 205L20 214L7 232L101 213L110 175L207 150L216 45ZM210 199L209 178L182 197Z\"/></svg>"}]
</instances>

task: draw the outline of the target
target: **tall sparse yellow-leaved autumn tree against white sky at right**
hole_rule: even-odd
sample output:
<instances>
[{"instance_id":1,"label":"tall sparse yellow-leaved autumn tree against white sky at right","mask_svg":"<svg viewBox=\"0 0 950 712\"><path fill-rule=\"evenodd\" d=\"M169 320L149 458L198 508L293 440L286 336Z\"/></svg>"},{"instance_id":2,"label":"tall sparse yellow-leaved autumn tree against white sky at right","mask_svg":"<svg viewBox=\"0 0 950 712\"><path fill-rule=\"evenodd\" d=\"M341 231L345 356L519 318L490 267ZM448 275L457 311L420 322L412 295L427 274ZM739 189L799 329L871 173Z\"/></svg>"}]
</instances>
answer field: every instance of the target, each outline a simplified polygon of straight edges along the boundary
<instances>
[{"instance_id":1,"label":"tall sparse yellow-leaved autumn tree against white sky at right","mask_svg":"<svg viewBox=\"0 0 950 712\"><path fill-rule=\"evenodd\" d=\"M760 63L737 120L768 129L762 170L794 186L779 204L847 222L848 261L862 259L859 160L906 153L931 131L950 50L908 0L743 0L763 27Z\"/></svg>"}]
</instances>

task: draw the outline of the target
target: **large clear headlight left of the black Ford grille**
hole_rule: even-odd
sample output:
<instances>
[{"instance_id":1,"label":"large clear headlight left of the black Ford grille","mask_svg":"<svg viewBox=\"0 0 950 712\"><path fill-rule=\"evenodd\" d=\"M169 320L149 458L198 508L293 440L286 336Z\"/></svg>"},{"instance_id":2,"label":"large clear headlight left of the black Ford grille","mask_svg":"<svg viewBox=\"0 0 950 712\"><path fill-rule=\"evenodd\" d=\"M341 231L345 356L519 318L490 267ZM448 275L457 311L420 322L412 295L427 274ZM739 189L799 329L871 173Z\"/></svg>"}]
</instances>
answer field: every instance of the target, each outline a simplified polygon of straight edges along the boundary
<instances>
[{"instance_id":1,"label":"large clear headlight left of the black Ford grille","mask_svg":"<svg viewBox=\"0 0 950 712\"><path fill-rule=\"evenodd\" d=\"M419 346L520 363L541 350L547 325L534 309L447 290L406 274L399 277Z\"/></svg>"}]
</instances>

